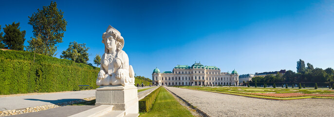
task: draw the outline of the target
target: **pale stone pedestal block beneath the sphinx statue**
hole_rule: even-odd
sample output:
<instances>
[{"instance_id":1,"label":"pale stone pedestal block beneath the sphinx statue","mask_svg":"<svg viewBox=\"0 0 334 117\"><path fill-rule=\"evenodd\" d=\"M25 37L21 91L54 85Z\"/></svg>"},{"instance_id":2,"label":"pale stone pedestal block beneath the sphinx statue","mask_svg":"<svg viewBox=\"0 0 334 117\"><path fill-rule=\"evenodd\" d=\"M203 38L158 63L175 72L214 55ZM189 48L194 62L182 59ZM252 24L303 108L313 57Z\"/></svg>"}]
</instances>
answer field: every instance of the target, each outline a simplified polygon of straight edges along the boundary
<instances>
[{"instance_id":1,"label":"pale stone pedestal block beneath the sphinx statue","mask_svg":"<svg viewBox=\"0 0 334 117\"><path fill-rule=\"evenodd\" d=\"M95 105L113 105L112 110L138 114L138 92L134 85L100 86L96 89Z\"/></svg>"}]
</instances>

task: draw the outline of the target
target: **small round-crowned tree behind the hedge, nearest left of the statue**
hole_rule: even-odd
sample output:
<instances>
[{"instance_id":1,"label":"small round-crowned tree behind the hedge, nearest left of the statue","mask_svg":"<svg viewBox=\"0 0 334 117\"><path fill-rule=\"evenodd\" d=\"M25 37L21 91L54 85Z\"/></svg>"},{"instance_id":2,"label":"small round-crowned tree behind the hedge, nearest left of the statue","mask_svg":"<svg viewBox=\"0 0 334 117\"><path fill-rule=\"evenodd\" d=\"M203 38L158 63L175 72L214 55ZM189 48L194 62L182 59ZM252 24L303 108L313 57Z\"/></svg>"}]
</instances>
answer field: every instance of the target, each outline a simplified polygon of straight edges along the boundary
<instances>
[{"instance_id":1,"label":"small round-crowned tree behind the hedge, nearest left of the statue","mask_svg":"<svg viewBox=\"0 0 334 117\"><path fill-rule=\"evenodd\" d=\"M88 51L89 48L86 47L86 43L77 43L75 41L70 42L69 48L66 51L61 52L60 58L62 59L71 59L77 63L87 63L88 59ZM77 58L74 55L74 50L77 52Z\"/></svg>"}]
</instances>

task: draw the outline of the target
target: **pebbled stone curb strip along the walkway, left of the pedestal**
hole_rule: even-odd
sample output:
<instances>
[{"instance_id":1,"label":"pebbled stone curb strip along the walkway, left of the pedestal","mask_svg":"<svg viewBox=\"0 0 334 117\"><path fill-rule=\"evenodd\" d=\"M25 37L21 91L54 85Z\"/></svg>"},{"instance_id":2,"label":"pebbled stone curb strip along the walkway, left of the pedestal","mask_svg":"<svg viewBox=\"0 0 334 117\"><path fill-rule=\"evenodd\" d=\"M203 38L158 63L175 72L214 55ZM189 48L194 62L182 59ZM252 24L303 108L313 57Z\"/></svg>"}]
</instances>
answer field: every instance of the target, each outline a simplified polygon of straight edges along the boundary
<instances>
[{"instance_id":1,"label":"pebbled stone curb strip along the walkway, left of the pedestal","mask_svg":"<svg viewBox=\"0 0 334 117\"><path fill-rule=\"evenodd\" d=\"M83 98L83 99L78 99L74 101L67 101L67 102L61 102L61 103L56 103L56 104L44 105L44 106L29 107L25 109L0 111L0 117L19 115L19 114L25 114L25 113L31 113L31 112L38 112L38 111L43 111L43 110L52 109L56 107L67 106L67 105L71 105L74 103L90 101L93 99L95 99L95 97Z\"/></svg>"}]
</instances>

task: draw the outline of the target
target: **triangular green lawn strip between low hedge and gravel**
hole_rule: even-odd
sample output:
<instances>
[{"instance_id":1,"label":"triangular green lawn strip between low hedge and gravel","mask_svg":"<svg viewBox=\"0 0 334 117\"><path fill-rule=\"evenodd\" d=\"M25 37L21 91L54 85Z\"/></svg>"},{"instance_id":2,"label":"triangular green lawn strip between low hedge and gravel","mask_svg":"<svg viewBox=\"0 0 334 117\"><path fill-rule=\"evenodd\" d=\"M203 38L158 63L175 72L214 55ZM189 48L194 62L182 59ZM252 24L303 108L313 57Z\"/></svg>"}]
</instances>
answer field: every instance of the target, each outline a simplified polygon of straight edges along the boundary
<instances>
[{"instance_id":1,"label":"triangular green lawn strip between low hedge and gravel","mask_svg":"<svg viewBox=\"0 0 334 117\"><path fill-rule=\"evenodd\" d=\"M161 88L153 107L139 117L193 117L165 88Z\"/></svg>"}]
</instances>

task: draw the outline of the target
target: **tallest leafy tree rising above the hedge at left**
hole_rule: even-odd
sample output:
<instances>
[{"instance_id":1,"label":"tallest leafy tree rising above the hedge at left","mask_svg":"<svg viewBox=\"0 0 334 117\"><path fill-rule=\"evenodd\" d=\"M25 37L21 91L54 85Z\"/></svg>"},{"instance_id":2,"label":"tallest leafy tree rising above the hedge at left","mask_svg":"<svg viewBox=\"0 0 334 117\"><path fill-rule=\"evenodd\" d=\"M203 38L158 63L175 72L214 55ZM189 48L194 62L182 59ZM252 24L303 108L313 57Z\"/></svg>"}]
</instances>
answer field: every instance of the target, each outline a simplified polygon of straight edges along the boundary
<instances>
[{"instance_id":1,"label":"tallest leafy tree rising above the hedge at left","mask_svg":"<svg viewBox=\"0 0 334 117\"><path fill-rule=\"evenodd\" d=\"M41 47L38 47L39 54L54 56L57 50L57 43L63 42L64 32L66 31L67 21L63 19L61 10L58 11L56 2L51 1L49 6L43 6L42 10L37 9L37 13L29 18L28 24L33 26L35 38L40 36L43 42ZM28 46L34 46L29 43ZM33 48L33 47L30 47Z\"/></svg>"}]
</instances>

